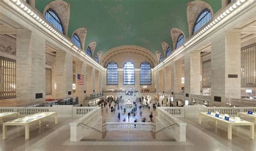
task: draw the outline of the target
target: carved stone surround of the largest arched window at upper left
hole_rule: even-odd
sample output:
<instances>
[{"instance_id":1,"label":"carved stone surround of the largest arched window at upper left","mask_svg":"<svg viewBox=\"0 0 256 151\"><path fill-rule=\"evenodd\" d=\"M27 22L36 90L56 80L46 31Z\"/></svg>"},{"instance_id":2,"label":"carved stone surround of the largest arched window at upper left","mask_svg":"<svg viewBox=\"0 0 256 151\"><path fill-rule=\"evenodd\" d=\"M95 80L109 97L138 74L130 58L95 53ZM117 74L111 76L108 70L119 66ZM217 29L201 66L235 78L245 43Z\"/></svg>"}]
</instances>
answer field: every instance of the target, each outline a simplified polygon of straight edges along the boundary
<instances>
[{"instance_id":1,"label":"carved stone surround of the largest arched window at upper left","mask_svg":"<svg viewBox=\"0 0 256 151\"><path fill-rule=\"evenodd\" d=\"M62 21L64 34L68 35L69 19L70 19L70 4L64 1L53 1L45 6L44 15L48 9L54 10Z\"/></svg>"}]
</instances>

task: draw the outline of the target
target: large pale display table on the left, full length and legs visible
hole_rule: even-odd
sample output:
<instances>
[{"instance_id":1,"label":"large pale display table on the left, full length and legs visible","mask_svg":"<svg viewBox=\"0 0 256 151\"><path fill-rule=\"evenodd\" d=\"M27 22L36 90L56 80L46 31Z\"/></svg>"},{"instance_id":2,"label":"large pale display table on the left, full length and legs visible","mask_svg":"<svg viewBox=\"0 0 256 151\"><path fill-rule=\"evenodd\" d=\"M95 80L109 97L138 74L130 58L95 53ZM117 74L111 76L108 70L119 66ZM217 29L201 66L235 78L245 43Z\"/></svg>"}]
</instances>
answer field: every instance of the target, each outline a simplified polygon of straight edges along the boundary
<instances>
[{"instance_id":1,"label":"large pale display table on the left, full length and legs visible","mask_svg":"<svg viewBox=\"0 0 256 151\"><path fill-rule=\"evenodd\" d=\"M55 117L55 124L58 124L58 115L57 112L42 112L42 113L36 113L32 114L30 116L26 116L23 118L18 118L15 120L7 121L3 124L3 139L7 139L7 126L25 126L25 139L29 139L29 125L39 121L39 124L41 124L41 121L45 118L49 117Z\"/></svg>"}]
</instances>

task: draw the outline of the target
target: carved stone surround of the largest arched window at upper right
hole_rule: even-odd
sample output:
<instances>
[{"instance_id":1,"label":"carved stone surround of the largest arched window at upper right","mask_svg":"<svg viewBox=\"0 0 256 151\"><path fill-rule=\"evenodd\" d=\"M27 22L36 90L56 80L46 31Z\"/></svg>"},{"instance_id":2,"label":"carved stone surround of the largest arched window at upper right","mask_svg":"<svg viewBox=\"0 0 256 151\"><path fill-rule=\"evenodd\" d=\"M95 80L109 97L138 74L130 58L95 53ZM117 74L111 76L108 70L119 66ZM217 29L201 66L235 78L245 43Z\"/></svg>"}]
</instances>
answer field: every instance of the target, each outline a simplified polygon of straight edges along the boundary
<instances>
[{"instance_id":1,"label":"carved stone surround of the largest arched window at upper right","mask_svg":"<svg viewBox=\"0 0 256 151\"><path fill-rule=\"evenodd\" d=\"M208 9L213 16L213 9L211 5L203 1L193 1L187 4L187 24L189 35L192 35L194 23L201 11Z\"/></svg>"}]
</instances>

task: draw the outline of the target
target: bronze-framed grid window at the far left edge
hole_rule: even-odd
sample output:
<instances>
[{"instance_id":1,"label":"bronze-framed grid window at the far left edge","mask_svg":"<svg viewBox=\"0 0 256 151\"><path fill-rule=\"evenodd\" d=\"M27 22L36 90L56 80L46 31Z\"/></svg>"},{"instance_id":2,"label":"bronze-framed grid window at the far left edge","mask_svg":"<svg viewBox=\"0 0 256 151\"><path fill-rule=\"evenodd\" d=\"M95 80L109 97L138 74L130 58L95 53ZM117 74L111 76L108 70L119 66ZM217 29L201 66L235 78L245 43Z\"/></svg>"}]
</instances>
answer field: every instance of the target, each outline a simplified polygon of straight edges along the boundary
<instances>
[{"instance_id":1,"label":"bronze-framed grid window at the far left edge","mask_svg":"<svg viewBox=\"0 0 256 151\"><path fill-rule=\"evenodd\" d=\"M0 99L16 98L16 61L0 56Z\"/></svg>"}]
</instances>

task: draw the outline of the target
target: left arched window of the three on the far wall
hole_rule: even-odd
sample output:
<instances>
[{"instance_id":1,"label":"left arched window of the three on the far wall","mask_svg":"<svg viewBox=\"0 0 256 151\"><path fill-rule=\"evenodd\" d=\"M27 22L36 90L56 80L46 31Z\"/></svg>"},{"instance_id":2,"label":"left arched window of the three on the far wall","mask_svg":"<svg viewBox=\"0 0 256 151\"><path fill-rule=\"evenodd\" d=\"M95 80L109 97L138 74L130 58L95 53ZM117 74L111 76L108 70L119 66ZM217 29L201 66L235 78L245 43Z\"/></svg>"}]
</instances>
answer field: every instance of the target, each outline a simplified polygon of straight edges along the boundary
<instances>
[{"instance_id":1,"label":"left arched window of the three on the far wall","mask_svg":"<svg viewBox=\"0 0 256 151\"><path fill-rule=\"evenodd\" d=\"M116 62L107 64L107 84L118 84L118 66Z\"/></svg>"}]
</instances>

